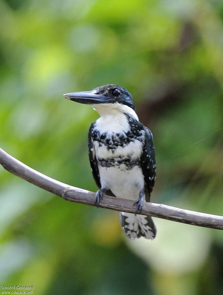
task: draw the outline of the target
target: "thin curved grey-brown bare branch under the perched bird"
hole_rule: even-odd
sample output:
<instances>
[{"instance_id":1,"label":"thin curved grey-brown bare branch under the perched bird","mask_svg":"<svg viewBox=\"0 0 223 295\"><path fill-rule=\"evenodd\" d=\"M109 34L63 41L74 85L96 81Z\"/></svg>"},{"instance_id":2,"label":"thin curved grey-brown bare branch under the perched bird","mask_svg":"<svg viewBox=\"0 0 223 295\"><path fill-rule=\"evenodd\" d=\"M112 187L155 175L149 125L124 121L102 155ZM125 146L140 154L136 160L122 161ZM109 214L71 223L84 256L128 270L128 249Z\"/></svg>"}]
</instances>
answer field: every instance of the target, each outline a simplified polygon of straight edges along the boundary
<instances>
[{"instance_id":1,"label":"thin curved grey-brown bare branch under the perched bird","mask_svg":"<svg viewBox=\"0 0 223 295\"><path fill-rule=\"evenodd\" d=\"M96 206L94 204L95 193L50 178L13 158L1 148L0 163L9 172L67 201ZM110 196L104 196L99 207L135 213L132 200ZM139 214L223 230L223 216L189 211L163 204L143 202L142 212Z\"/></svg>"}]
</instances>

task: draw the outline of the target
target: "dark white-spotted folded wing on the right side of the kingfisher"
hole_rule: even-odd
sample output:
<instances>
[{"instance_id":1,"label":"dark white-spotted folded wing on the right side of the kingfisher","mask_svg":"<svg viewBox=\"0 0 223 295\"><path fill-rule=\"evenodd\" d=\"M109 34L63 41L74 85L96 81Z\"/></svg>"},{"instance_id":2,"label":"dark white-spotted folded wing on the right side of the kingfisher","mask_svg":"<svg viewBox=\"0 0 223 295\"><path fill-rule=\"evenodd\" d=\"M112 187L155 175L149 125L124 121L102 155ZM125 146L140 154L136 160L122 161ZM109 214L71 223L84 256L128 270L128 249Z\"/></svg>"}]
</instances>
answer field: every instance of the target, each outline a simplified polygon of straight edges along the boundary
<instances>
[{"instance_id":1,"label":"dark white-spotted folded wing on the right side of the kingfisher","mask_svg":"<svg viewBox=\"0 0 223 295\"><path fill-rule=\"evenodd\" d=\"M156 179L155 147L152 132L145 126L143 126L143 129L145 131L145 144L142 150L140 162L145 179L145 185L148 190L148 193L145 194L145 199L149 202L150 194L153 191Z\"/></svg>"}]
</instances>

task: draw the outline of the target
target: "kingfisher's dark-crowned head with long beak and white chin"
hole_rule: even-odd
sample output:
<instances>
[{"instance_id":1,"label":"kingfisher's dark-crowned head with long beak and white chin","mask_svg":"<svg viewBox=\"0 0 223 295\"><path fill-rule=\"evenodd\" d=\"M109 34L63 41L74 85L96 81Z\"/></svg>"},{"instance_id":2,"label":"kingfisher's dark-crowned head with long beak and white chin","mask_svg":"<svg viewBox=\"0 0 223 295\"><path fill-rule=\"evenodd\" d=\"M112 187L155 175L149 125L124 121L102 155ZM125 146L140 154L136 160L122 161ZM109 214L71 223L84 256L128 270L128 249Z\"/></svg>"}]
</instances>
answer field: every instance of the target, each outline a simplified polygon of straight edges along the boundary
<instances>
[{"instance_id":1,"label":"kingfisher's dark-crowned head with long beak and white chin","mask_svg":"<svg viewBox=\"0 0 223 295\"><path fill-rule=\"evenodd\" d=\"M92 91L67 93L64 97L81 104L91 104L96 110L107 106L120 110L129 107L135 111L132 95L124 87L115 84L100 86Z\"/></svg>"}]
</instances>

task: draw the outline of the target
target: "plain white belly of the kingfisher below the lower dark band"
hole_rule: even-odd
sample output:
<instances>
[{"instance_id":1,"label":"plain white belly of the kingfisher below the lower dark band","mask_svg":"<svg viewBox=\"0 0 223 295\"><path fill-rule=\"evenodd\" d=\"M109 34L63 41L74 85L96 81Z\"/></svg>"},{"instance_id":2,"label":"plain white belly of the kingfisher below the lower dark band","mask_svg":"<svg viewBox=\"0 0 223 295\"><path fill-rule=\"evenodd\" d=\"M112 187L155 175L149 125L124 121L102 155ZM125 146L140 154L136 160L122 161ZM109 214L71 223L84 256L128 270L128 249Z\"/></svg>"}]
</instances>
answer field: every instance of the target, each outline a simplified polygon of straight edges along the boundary
<instances>
[{"instance_id":1,"label":"plain white belly of the kingfisher below the lower dark band","mask_svg":"<svg viewBox=\"0 0 223 295\"><path fill-rule=\"evenodd\" d=\"M110 189L118 198L137 200L144 188L144 177L139 166L127 170L122 164L116 167L99 166L101 187Z\"/></svg>"}]
</instances>

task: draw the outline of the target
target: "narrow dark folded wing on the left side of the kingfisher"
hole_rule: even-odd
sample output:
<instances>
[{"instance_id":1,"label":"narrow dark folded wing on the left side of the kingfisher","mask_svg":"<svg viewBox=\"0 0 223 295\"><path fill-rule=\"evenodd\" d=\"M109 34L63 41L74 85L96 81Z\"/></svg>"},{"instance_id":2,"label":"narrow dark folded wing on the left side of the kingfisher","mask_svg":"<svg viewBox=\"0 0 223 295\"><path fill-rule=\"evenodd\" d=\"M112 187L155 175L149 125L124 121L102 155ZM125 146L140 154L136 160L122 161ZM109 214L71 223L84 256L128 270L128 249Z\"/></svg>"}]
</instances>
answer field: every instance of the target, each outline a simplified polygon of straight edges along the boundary
<instances>
[{"instance_id":1,"label":"narrow dark folded wing on the left side of the kingfisher","mask_svg":"<svg viewBox=\"0 0 223 295\"><path fill-rule=\"evenodd\" d=\"M93 138L92 138L92 132L94 128L94 123L91 124L89 131L88 131L88 156L91 164L91 170L94 176L94 180L96 182L96 185L101 189L101 182L100 182L100 175L98 170L98 163L95 155L95 149L93 144Z\"/></svg>"}]
</instances>

